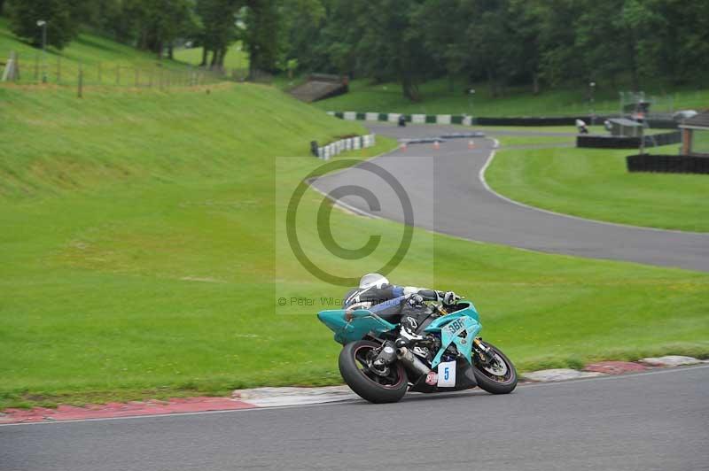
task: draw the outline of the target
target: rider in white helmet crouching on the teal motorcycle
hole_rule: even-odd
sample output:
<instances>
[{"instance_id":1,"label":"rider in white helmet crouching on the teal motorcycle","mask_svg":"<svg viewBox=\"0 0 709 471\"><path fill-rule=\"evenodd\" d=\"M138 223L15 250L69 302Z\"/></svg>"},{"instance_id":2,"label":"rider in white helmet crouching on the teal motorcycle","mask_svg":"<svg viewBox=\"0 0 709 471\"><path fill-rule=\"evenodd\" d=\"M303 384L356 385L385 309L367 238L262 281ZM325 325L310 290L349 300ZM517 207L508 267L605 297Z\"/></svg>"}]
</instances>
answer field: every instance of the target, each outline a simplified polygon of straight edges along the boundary
<instances>
[{"instance_id":1,"label":"rider in white helmet crouching on the teal motorcycle","mask_svg":"<svg viewBox=\"0 0 709 471\"><path fill-rule=\"evenodd\" d=\"M346 309L367 309L372 313L401 313L399 336L395 345L403 347L415 344L424 337L417 334L417 328L432 315L424 304L425 300L443 301L443 305L454 305L460 299L453 291L436 291L413 286L397 286L389 283L384 275L365 274L358 288L345 295L343 307ZM414 350L417 352L417 349Z\"/></svg>"}]
</instances>

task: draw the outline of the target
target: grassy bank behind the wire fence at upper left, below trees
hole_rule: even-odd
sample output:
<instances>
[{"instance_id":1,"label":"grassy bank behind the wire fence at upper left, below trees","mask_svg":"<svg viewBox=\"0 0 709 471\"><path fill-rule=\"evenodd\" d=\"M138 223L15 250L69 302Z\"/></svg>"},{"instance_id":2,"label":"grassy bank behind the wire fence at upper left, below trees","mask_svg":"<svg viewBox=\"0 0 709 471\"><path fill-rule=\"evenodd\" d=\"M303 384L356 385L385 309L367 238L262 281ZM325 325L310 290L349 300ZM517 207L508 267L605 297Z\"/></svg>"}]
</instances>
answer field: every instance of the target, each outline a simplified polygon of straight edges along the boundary
<instances>
[{"instance_id":1,"label":"grassy bank behind the wire fence at upper left, below trees","mask_svg":"<svg viewBox=\"0 0 709 471\"><path fill-rule=\"evenodd\" d=\"M46 70L52 84L76 85L80 64L85 85L156 86L160 80L183 78L189 67L168 59L158 60L153 53L113 42L98 35L82 34L64 50L47 50L46 69L42 50L12 35L7 19L0 17L0 60L5 62L14 51L19 58L19 83L37 83ZM162 72L161 72L162 71ZM137 72L137 73L136 73Z\"/></svg>"}]
</instances>

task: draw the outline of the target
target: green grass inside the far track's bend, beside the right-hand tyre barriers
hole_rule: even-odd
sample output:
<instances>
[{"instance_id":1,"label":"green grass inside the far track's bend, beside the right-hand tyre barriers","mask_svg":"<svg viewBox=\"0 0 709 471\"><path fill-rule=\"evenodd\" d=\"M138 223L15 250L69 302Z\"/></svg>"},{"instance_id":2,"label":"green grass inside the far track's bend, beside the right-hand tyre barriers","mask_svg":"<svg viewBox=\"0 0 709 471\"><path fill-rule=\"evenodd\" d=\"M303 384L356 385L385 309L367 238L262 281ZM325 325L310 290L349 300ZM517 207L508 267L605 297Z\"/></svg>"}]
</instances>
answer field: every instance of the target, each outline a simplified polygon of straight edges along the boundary
<instances>
[{"instance_id":1,"label":"green grass inside the far track's bend, beside the right-hand tyre barriers","mask_svg":"<svg viewBox=\"0 0 709 471\"><path fill-rule=\"evenodd\" d=\"M503 143L504 139L509 138L503 137ZM674 154L677 145L649 151ZM653 228L709 231L709 178L631 174L625 158L632 153L503 149L486 176L490 186L503 195L556 212Z\"/></svg>"}]
</instances>

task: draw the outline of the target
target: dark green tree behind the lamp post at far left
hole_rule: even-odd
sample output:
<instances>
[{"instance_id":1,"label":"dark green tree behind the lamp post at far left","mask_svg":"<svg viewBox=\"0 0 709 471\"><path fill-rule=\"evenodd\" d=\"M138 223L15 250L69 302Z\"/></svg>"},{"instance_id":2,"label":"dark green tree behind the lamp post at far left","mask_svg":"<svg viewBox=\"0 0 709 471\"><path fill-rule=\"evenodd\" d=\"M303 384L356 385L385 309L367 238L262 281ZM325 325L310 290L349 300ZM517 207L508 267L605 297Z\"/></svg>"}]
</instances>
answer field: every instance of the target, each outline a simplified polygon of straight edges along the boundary
<instances>
[{"instance_id":1,"label":"dark green tree behind the lamp post at far left","mask_svg":"<svg viewBox=\"0 0 709 471\"><path fill-rule=\"evenodd\" d=\"M63 49L79 34L80 0L12 0L7 4L12 33L27 39L34 46L42 46L42 27L37 21L47 22L47 43Z\"/></svg>"}]
</instances>

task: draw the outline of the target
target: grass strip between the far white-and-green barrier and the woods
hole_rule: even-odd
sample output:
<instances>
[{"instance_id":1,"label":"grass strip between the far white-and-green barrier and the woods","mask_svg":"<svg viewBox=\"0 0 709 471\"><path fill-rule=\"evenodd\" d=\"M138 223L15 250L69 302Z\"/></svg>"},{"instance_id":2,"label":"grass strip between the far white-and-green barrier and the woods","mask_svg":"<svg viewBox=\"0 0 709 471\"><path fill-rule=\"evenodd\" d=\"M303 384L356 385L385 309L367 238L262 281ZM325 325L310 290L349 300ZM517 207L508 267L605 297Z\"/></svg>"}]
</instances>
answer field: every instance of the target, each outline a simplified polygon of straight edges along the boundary
<instances>
[{"instance_id":1,"label":"grass strip between the far white-and-green barrier and the woods","mask_svg":"<svg viewBox=\"0 0 709 471\"><path fill-rule=\"evenodd\" d=\"M528 88L510 88L504 97L492 97L485 84L476 84L475 95L464 93L464 82L457 81L453 92L447 80L428 81L421 86L423 100L414 103L401 95L396 83L371 84L361 79L350 82L350 92L339 97L318 101L315 105L326 111L406 112L426 114L471 114L473 116L553 116L586 114L590 107L585 89L544 89L539 95ZM595 95L596 112L619 112L618 90L598 85ZM646 90L658 97L654 111L671 109L703 109L709 103L709 89L682 88L671 93L654 87Z\"/></svg>"}]
</instances>

